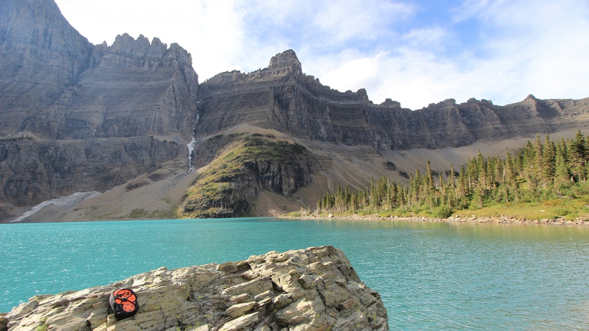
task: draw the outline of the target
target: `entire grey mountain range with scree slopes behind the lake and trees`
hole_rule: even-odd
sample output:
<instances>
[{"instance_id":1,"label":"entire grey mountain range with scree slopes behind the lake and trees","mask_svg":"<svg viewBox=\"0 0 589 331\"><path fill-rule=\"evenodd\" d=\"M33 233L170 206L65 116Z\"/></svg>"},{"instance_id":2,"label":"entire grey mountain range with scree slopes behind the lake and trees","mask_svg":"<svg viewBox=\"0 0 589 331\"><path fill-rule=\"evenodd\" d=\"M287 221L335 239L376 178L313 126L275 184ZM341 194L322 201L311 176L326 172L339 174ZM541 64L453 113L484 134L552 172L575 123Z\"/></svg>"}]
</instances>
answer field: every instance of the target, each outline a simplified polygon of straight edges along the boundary
<instances>
[{"instance_id":1,"label":"entire grey mountain range with scree slopes behind the lake and trees","mask_svg":"<svg viewBox=\"0 0 589 331\"><path fill-rule=\"evenodd\" d=\"M199 84L178 44L122 34L92 45L53 0L0 2L0 68L0 220L93 191L27 220L276 214L338 181L406 181L425 160L444 173L473 148L589 125L589 98L373 104L303 73L292 50Z\"/></svg>"}]
</instances>

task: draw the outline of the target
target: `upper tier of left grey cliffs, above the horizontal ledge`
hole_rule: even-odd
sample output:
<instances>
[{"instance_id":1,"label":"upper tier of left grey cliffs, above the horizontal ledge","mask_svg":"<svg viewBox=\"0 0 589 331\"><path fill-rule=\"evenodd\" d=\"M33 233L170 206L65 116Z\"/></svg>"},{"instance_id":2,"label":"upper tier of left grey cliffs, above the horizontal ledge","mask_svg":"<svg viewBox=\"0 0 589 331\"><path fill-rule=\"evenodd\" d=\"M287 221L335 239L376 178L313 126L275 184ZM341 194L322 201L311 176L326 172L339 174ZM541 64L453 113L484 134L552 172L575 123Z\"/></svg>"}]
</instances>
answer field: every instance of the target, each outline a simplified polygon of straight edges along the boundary
<instances>
[{"instance_id":1,"label":"upper tier of left grey cliffs, above the horizontal ledge","mask_svg":"<svg viewBox=\"0 0 589 331\"><path fill-rule=\"evenodd\" d=\"M2 1L0 68L4 134L188 139L196 123L198 76L186 50L128 34L94 46L52 0Z\"/></svg>"}]
</instances>

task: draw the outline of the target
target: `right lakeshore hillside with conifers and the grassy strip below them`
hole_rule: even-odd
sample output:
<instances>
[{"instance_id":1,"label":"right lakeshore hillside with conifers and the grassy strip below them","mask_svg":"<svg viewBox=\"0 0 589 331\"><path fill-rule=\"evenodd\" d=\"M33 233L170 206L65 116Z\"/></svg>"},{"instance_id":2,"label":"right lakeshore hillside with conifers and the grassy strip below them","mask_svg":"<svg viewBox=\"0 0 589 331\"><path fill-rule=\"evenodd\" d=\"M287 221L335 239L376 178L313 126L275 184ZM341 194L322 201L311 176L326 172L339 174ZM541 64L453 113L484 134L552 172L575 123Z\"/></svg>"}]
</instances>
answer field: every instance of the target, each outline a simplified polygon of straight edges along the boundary
<instances>
[{"instance_id":1,"label":"right lakeshore hillside with conifers and the grassy strip below them","mask_svg":"<svg viewBox=\"0 0 589 331\"><path fill-rule=\"evenodd\" d=\"M428 161L425 173L417 169L415 175L409 174L408 186L387 176L372 180L365 190L337 186L317 201L315 213L415 216L425 211L427 216L447 218L456 210L487 207L483 214L589 219L589 140L581 131L566 141L546 135L543 144L537 136L517 154L507 151L505 159L485 159L479 151L459 172L452 166L447 180L436 175Z\"/></svg>"}]
</instances>

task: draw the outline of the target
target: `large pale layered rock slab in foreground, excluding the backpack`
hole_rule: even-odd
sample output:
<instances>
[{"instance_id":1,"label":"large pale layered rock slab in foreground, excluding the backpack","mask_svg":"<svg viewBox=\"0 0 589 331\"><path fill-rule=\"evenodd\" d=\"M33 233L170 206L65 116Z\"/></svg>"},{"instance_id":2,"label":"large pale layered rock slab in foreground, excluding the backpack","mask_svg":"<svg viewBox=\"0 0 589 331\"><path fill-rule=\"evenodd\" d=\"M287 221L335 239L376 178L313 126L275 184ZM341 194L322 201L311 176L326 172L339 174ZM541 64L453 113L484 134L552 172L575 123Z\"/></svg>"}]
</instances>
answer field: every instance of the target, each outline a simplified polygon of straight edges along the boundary
<instances>
[{"instance_id":1,"label":"large pale layered rock slab in foreground, excluding the backpack","mask_svg":"<svg viewBox=\"0 0 589 331\"><path fill-rule=\"evenodd\" d=\"M108 312L118 287L137 293L125 320ZM3 326L4 325L4 326ZM388 330L380 295L333 246L270 251L239 262L138 274L81 291L40 295L4 316L0 329L335 331Z\"/></svg>"}]
</instances>

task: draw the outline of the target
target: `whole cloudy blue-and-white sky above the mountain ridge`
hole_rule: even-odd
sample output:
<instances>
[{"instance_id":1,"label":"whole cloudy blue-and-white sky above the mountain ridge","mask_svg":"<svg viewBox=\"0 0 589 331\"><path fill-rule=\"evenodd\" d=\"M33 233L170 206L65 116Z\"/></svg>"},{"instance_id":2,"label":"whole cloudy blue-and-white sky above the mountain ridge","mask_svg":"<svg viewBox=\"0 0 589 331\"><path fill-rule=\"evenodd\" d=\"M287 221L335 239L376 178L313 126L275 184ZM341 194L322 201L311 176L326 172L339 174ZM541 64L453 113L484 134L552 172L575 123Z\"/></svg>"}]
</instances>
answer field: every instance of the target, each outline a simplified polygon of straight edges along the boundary
<instances>
[{"instance_id":1,"label":"whole cloudy blue-and-white sky above the mountain ridge","mask_svg":"<svg viewBox=\"0 0 589 331\"><path fill-rule=\"evenodd\" d=\"M125 32L177 42L200 81L293 49L306 74L376 104L589 97L588 0L55 2L93 44Z\"/></svg>"}]
</instances>

